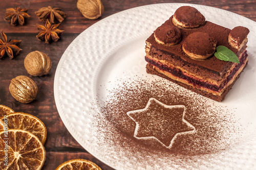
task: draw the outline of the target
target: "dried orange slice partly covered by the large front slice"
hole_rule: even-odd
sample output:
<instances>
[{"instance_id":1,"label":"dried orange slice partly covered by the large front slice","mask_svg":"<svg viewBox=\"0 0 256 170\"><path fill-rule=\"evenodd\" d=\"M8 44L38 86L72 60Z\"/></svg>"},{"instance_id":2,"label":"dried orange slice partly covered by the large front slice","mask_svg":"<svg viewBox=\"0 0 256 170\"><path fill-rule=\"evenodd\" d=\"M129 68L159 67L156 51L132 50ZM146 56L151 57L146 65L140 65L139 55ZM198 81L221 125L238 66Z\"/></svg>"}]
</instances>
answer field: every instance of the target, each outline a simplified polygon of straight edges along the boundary
<instances>
[{"instance_id":1,"label":"dried orange slice partly covered by the large front slice","mask_svg":"<svg viewBox=\"0 0 256 170\"><path fill-rule=\"evenodd\" d=\"M7 116L9 129L29 131L37 136L42 144L45 144L47 136L46 126L39 118L23 112L14 112ZM4 117L0 119L4 120Z\"/></svg>"}]
</instances>

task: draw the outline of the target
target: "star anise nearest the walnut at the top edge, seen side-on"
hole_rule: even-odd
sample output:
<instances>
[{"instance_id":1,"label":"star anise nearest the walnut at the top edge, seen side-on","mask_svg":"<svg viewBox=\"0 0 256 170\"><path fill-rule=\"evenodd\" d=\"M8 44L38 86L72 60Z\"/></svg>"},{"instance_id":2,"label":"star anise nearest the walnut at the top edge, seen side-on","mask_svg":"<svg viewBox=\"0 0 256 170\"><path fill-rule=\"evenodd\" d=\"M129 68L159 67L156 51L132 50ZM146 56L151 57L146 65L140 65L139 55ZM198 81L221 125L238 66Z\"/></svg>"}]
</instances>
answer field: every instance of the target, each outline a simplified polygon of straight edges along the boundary
<instances>
[{"instance_id":1,"label":"star anise nearest the walnut at the top edge, seen side-on","mask_svg":"<svg viewBox=\"0 0 256 170\"><path fill-rule=\"evenodd\" d=\"M35 12L35 14L39 16L39 19L41 21L50 19L51 23L54 23L54 20L62 22L64 18L66 18L67 16L67 14L61 11L60 8L52 8L50 6L39 9L38 11Z\"/></svg>"}]
</instances>

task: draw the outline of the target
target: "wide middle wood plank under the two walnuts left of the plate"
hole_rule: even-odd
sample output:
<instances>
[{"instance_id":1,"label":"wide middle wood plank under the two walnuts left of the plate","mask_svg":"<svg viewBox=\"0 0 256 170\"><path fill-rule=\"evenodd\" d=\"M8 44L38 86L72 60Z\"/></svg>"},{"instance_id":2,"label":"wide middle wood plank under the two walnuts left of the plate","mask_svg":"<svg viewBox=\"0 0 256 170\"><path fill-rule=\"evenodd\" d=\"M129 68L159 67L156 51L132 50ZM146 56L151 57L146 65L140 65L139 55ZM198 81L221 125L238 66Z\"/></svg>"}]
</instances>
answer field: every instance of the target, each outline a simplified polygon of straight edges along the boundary
<instances>
[{"instance_id":1,"label":"wide middle wood plank under the two walnuts left of the plate","mask_svg":"<svg viewBox=\"0 0 256 170\"><path fill-rule=\"evenodd\" d=\"M7 34L8 38L22 40L20 48L23 51L12 60L9 58L0 60L0 104L11 107L16 112L25 112L39 117L45 123L48 131L46 148L67 147L68 145L69 147L81 148L63 125L57 112L53 94L54 75L58 61L76 36L77 34L66 34L58 42L46 44L44 41L37 40L35 34ZM26 71L24 59L28 53L36 50L48 54L51 58L52 70L49 75L34 77ZM11 79L19 75L30 77L38 86L37 99L30 104L17 102L9 92ZM55 137L51 138L50 136Z\"/></svg>"}]
</instances>

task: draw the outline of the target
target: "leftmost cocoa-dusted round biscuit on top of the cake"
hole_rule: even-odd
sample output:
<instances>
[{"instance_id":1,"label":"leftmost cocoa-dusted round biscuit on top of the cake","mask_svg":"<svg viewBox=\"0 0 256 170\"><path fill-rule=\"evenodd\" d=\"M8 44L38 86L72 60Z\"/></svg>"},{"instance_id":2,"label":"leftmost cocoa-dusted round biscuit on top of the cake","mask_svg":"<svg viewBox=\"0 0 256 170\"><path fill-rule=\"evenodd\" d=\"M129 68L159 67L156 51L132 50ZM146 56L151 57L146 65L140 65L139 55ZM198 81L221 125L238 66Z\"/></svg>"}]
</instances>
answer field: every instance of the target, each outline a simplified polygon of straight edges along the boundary
<instances>
[{"instance_id":1,"label":"leftmost cocoa-dusted round biscuit on top of the cake","mask_svg":"<svg viewBox=\"0 0 256 170\"><path fill-rule=\"evenodd\" d=\"M160 26L154 31L154 37L159 44L176 45L181 40L181 32L174 26Z\"/></svg>"}]
</instances>

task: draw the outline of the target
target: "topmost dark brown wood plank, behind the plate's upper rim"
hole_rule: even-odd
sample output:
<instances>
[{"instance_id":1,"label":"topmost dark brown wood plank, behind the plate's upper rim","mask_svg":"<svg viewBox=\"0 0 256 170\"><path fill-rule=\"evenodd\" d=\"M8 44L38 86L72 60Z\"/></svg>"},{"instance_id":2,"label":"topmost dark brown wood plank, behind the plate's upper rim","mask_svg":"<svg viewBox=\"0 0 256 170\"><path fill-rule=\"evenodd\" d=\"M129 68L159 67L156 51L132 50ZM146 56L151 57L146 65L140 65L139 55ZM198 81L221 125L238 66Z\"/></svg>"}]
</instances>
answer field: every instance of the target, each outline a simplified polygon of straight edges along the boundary
<instances>
[{"instance_id":1,"label":"topmost dark brown wood plank, behind the plate's upper rim","mask_svg":"<svg viewBox=\"0 0 256 170\"><path fill-rule=\"evenodd\" d=\"M11 3L12 2L12 3ZM44 25L45 22L40 21L35 15L35 11L39 8L52 6L59 7L62 11L68 14L67 18L61 23L60 29L65 30L65 33L81 33L90 27L93 23L96 23L102 18L105 18L114 13L120 12L125 9L130 9L138 6L148 5L148 4L156 4L156 3L189 3L189 4L201 4L210 7L216 7L225 9L230 12L234 12L250 18L256 21L256 2L255 1L156 1L156 0L143 0L143 1L125 1L125 0L102 0L102 4L104 5L105 11L102 17L96 20L90 20L84 18L80 11L76 7L77 1L65 0L60 2L52 2L49 0L40 0L40 1L3 1L2 9L12 8L16 6L20 6L28 9L28 14L31 15L26 21L26 25L13 27L9 23L7 23L3 17L0 18L1 29L6 33L37 33L37 24ZM201 3L200 3L201 2Z\"/></svg>"}]
</instances>

